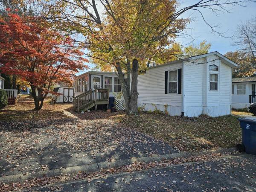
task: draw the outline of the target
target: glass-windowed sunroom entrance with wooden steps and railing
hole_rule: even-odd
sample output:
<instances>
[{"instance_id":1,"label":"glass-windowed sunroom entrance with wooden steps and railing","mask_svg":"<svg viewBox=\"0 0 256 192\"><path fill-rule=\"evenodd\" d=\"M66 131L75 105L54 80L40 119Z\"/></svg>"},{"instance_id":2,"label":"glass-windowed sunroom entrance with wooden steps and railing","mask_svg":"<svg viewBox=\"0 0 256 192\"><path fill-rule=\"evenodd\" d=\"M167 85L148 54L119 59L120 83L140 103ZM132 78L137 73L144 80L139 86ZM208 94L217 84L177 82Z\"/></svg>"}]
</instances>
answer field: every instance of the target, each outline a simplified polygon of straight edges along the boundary
<instances>
[{"instance_id":1,"label":"glass-windowed sunroom entrance with wooden steps and railing","mask_svg":"<svg viewBox=\"0 0 256 192\"><path fill-rule=\"evenodd\" d=\"M74 91L76 111L106 109L114 106L114 93L121 91L121 84L115 72L88 71L76 77Z\"/></svg>"}]
</instances>

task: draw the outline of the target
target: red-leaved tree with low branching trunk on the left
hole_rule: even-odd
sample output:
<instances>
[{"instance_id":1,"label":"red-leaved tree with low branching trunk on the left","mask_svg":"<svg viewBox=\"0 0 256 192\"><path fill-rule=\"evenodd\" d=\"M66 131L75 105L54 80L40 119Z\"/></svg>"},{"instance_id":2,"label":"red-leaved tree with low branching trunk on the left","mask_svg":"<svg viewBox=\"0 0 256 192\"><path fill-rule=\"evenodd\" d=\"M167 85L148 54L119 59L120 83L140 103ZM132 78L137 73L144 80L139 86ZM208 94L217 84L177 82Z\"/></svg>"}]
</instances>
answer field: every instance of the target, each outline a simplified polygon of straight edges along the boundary
<instances>
[{"instance_id":1,"label":"red-leaved tree with low branching trunk on the left","mask_svg":"<svg viewBox=\"0 0 256 192\"><path fill-rule=\"evenodd\" d=\"M70 36L39 21L16 14L9 14L8 20L0 19L0 70L29 82L35 110L40 110L47 94L53 93L51 86L71 84L75 73L87 67L87 59L74 47Z\"/></svg>"}]
</instances>

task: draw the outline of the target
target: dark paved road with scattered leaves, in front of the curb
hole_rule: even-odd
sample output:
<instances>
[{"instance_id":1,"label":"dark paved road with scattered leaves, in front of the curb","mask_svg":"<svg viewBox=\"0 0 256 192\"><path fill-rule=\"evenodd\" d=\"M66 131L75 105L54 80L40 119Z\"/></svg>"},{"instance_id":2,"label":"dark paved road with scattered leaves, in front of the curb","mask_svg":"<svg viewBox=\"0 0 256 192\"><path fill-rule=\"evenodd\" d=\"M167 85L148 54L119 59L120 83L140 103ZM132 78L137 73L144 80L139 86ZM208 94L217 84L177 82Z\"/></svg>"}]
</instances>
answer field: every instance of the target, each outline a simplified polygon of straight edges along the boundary
<instances>
[{"instance_id":1,"label":"dark paved road with scattered leaves, in front of the curb","mask_svg":"<svg viewBox=\"0 0 256 192\"><path fill-rule=\"evenodd\" d=\"M256 156L183 164L161 169L111 175L39 189L69 192L202 192L256 191ZM57 188L56 188L57 187Z\"/></svg>"}]
</instances>

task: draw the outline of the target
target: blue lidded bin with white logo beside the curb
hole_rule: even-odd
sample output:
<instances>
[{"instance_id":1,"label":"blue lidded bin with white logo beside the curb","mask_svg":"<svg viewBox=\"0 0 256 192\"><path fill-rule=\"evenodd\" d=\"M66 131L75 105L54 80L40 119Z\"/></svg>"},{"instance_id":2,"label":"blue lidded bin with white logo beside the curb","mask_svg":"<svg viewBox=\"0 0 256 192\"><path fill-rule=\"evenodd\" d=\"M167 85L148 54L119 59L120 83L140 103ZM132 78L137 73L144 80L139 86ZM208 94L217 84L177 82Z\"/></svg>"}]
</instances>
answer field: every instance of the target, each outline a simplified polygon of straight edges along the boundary
<instances>
[{"instance_id":1,"label":"blue lidded bin with white logo beside the curb","mask_svg":"<svg viewBox=\"0 0 256 192\"><path fill-rule=\"evenodd\" d=\"M238 118L242 129L242 144L245 152L256 154L256 119Z\"/></svg>"}]
</instances>

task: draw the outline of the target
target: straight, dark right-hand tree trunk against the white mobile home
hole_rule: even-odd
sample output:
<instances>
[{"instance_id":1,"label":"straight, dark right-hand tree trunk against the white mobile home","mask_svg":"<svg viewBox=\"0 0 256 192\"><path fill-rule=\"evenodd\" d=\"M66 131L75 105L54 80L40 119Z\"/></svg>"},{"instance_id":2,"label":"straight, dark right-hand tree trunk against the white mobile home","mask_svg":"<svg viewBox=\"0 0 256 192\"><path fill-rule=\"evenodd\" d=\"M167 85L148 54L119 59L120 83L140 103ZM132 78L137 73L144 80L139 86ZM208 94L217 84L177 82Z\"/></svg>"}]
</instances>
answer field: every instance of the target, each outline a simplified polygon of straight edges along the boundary
<instances>
[{"instance_id":1,"label":"straight, dark right-hand tree trunk against the white mobile home","mask_svg":"<svg viewBox=\"0 0 256 192\"><path fill-rule=\"evenodd\" d=\"M139 61L134 59L132 61L132 71L131 71L131 99L130 99L130 113L138 113L138 70Z\"/></svg>"}]
</instances>

